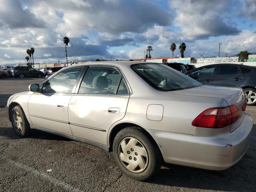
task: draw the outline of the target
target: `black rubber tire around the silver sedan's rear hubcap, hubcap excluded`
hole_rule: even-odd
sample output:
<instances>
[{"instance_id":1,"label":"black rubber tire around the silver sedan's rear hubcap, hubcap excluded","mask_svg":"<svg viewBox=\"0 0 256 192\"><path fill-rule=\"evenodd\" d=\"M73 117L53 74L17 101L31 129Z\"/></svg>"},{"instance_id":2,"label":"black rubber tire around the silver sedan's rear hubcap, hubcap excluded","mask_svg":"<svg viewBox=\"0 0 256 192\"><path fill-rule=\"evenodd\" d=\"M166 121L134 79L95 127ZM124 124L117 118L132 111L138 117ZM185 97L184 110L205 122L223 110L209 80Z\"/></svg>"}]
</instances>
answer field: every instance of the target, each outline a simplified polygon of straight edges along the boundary
<instances>
[{"instance_id":1,"label":"black rubber tire around the silver sedan's rear hubcap, hubcap excluded","mask_svg":"<svg viewBox=\"0 0 256 192\"><path fill-rule=\"evenodd\" d=\"M135 138L146 149L148 155L148 163L146 168L142 172L132 172L126 168L126 166L122 163L119 155L119 145L126 138ZM135 152L135 150L134 150ZM116 161L116 164L120 168L120 170L128 177L144 181L154 176L161 168L162 164L162 154L154 141L146 134L146 132L140 127L127 127L116 135L113 142L113 154ZM129 153L130 154L130 153ZM129 155L128 155L129 156ZM130 158L130 157L129 157ZM132 159L132 158L131 158Z\"/></svg>"}]
</instances>

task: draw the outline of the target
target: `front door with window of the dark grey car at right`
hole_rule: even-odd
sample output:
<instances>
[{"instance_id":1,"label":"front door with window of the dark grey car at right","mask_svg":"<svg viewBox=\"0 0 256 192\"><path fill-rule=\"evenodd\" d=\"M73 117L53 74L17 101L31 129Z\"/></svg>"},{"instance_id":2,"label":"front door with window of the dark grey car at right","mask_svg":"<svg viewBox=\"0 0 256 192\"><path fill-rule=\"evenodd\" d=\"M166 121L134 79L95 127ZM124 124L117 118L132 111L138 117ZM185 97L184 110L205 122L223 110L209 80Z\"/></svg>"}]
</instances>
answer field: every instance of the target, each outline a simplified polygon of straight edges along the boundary
<instances>
[{"instance_id":1,"label":"front door with window of the dark grey car at right","mask_svg":"<svg viewBox=\"0 0 256 192\"><path fill-rule=\"evenodd\" d=\"M191 71L189 76L202 84L211 85L214 78L214 70L215 66L205 66Z\"/></svg>"}]
</instances>

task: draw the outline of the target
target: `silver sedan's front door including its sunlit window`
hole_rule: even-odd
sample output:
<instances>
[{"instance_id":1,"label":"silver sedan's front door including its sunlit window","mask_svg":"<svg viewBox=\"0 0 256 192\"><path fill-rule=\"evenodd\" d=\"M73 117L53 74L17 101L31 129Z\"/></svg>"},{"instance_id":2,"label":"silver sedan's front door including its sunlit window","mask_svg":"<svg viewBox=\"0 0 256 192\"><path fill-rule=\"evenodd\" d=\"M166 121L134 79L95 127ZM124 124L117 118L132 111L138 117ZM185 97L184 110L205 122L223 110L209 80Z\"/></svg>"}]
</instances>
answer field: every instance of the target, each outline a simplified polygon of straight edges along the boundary
<instances>
[{"instance_id":1,"label":"silver sedan's front door including its sunlit window","mask_svg":"<svg viewBox=\"0 0 256 192\"><path fill-rule=\"evenodd\" d=\"M72 135L68 122L68 103L84 66L70 68L53 76L28 100L29 117L34 126Z\"/></svg>"}]
</instances>

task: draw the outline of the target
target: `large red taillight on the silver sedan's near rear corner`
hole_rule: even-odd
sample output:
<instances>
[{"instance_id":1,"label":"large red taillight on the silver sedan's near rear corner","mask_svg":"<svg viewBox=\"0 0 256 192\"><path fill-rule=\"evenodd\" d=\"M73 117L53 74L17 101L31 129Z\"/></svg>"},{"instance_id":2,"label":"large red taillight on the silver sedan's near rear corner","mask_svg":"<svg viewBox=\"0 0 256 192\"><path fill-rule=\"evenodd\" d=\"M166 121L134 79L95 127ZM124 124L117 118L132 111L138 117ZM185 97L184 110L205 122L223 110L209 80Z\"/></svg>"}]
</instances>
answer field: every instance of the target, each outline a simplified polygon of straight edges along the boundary
<instances>
[{"instance_id":1,"label":"large red taillight on the silver sedan's near rear corner","mask_svg":"<svg viewBox=\"0 0 256 192\"><path fill-rule=\"evenodd\" d=\"M242 116L242 109L235 106L210 108L198 115L193 126L206 128L223 128L236 122Z\"/></svg>"}]
</instances>

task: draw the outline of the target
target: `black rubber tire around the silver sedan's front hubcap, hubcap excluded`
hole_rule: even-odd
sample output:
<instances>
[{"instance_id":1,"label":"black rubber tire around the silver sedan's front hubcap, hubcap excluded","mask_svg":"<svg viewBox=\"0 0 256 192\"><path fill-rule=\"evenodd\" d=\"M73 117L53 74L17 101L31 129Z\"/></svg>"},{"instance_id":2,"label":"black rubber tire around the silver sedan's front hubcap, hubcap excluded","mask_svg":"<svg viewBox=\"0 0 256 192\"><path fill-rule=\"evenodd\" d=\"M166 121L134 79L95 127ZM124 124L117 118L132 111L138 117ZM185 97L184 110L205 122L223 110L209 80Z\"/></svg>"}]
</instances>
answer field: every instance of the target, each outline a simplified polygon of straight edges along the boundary
<instances>
[{"instance_id":1,"label":"black rubber tire around the silver sedan's front hubcap, hubcap excluded","mask_svg":"<svg viewBox=\"0 0 256 192\"><path fill-rule=\"evenodd\" d=\"M22 130L21 131L18 131L17 128L16 128L16 123L14 121L14 113L18 112L18 114L20 115L19 117L22 119L22 124L21 127L22 127ZM25 137L29 134L30 132L30 125L28 123L28 120L22 110L22 107L20 105L17 105L15 106L13 109L12 109L12 112L11 112L11 122L12 122L12 128L14 130L14 132L20 136L20 137ZM24 123L23 123L24 122Z\"/></svg>"}]
</instances>

